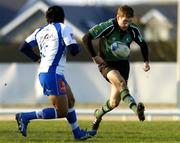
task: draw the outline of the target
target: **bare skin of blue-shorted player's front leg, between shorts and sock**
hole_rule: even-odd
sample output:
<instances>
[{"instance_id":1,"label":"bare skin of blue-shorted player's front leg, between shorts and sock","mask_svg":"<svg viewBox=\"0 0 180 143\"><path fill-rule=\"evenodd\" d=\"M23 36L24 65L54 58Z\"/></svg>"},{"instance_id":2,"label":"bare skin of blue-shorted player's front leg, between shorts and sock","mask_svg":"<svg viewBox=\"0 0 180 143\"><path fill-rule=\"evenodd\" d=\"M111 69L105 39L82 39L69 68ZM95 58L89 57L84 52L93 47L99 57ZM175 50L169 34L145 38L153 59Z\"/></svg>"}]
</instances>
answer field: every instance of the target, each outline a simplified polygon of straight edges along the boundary
<instances>
[{"instance_id":1,"label":"bare skin of blue-shorted player's front leg, between shorts and sock","mask_svg":"<svg viewBox=\"0 0 180 143\"><path fill-rule=\"evenodd\" d=\"M68 107L69 108L74 107L75 98L74 98L73 92L71 90L71 87L68 84L66 85L66 94L67 94L67 98L68 98Z\"/></svg>"}]
</instances>

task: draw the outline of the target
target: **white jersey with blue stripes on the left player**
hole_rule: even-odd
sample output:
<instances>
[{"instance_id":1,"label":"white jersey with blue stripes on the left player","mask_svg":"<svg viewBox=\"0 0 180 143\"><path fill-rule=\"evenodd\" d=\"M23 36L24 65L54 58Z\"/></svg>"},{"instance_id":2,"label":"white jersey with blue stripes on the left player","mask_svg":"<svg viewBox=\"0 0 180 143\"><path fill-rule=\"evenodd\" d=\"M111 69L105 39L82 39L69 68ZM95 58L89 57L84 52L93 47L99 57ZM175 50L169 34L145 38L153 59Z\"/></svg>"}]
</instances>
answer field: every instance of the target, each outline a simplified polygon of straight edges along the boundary
<instances>
[{"instance_id":1,"label":"white jersey with blue stripes on the left player","mask_svg":"<svg viewBox=\"0 0 180 143\"><path fill-rule=\"evenodd\" d=\"M39 47L41 63L39 72L63 74L66 46L76 44L72 29L63 23L52 23L36 29L25 40L32 48Z\"/></svg>"}]
</instances>

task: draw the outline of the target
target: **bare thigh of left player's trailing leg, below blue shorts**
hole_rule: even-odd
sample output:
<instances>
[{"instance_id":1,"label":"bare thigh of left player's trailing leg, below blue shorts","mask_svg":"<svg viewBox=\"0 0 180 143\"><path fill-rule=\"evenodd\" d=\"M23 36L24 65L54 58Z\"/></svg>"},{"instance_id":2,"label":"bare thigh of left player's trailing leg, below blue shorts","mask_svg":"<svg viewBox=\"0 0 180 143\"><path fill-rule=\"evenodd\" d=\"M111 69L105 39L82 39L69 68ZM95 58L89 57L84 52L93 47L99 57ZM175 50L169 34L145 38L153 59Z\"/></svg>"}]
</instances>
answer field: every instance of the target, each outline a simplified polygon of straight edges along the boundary
<instances>
[{"instance_id":1,"label":"bare thigh of left player's trailing leg, below blue shorts","mask_svg":"<svg viewBox=\"0 0 180 143\"><path fill-rule=\"evenodd\" d=\"M49 95L48 99L58 111L58 117L66 117L68 112L68 99L66 95Z\"/></svg>"}]
</instances>

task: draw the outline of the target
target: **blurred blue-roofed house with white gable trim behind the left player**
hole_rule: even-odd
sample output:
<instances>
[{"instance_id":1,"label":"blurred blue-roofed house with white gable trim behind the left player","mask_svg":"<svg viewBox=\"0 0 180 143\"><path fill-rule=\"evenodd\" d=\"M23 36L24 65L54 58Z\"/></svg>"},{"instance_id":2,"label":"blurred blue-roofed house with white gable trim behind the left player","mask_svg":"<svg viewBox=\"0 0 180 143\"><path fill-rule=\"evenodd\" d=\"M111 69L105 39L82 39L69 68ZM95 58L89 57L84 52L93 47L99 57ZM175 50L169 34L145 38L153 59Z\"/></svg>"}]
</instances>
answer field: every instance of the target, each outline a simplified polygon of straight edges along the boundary
<instances>
[{"instance_id":1,"label":"blurred blue-roofed house with white gable trim behind the left player","mask_svg":"<svg viewBox=\"0 0 180 143\"><path fill-rule=\"evenodd\" d=\"M8 3L8 0L6 1ZM19 2L19 1L17 1ZM0 3L1 4L1 3ZM19 10L7 15L6 21L1 21L0 36L1 41L21 42L35 28L46 24L45 12L49 6L54 5L48 0L29 0L26 3L21 3ZM96 23L107 20L114 16L111 9L106 9L103 6L63 6L66 14L66 23L71 25L74 32L79 37L83 32L87 31ZM92 12L93 11L93 12ZM9 13L9 9L4 9L2 13ZM4 17L2 15L2 17ZM14 18L12 18L14 17Z\"/></svg>"}]
</instances>

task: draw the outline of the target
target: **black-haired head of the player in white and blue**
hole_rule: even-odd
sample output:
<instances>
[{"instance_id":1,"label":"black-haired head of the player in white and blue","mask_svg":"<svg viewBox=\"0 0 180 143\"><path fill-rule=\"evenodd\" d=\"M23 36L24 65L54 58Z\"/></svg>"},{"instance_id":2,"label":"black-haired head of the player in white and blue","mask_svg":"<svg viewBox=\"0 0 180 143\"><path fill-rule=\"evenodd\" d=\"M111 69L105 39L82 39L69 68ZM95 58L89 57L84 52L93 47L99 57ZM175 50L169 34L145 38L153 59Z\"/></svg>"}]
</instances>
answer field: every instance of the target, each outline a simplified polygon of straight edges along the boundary
<instances>
[{"instance_id":1,"label":"black-haired head of the player in white and blue","mask_svg":"<svg viewBox=\"0 0 180 143\"><path fill-rule=\"evenodd\" d=\"M49 7L48 10L46 11L46 20L48 23L52 22L64 22L64 10L60 6L52 6Z\"/></svg>"}]
</instances>

